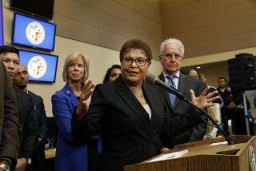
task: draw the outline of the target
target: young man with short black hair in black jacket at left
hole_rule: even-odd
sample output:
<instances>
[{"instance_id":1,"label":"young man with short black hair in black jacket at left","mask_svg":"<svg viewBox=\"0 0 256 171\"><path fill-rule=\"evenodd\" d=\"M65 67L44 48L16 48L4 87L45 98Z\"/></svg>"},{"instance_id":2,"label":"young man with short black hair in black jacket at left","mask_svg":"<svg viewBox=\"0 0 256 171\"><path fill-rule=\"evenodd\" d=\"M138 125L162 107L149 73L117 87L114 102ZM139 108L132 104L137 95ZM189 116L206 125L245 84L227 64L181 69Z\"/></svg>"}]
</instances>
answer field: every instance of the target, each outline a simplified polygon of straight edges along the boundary
<instances>
[{"instance_id":1,"label":"young man with short black hair in black jacket at left","mask_svg":"<svg viewBox=\"0 0 256 171\"><path fill-rule=\"evenodd\" d=\"M0 60L6 66L10 82L18 72L18 50L12 46L0 47ZM38 145L38 124L34 117L34 106L30 96L14 86L16 101L18 104L19 124L22 133L19 133L20 150L16 165L17 170L30 170L31 158Z\"/></svg>"}]
</instances>

